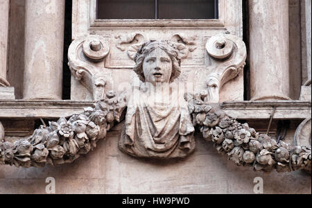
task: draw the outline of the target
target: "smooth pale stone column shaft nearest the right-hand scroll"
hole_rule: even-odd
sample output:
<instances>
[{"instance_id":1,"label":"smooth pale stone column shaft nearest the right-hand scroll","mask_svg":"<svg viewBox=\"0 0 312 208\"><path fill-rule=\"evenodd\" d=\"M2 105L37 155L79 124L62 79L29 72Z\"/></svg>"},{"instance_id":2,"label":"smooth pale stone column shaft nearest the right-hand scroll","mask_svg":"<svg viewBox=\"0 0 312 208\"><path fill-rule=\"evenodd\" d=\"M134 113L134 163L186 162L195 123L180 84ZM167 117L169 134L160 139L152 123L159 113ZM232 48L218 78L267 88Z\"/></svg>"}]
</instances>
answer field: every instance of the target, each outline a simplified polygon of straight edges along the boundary
<instances>
[{"instance_id":1,"label":"smooth pale stone column shaft nearest the right-hand scroll","mask_svg":"<svg viewBox=\"0 0 312 208\"><path fill-rule=\"evenodd\" d=\"M249 0L252 100L289 98L288 0Z\"/></svg>"}]
</instances>

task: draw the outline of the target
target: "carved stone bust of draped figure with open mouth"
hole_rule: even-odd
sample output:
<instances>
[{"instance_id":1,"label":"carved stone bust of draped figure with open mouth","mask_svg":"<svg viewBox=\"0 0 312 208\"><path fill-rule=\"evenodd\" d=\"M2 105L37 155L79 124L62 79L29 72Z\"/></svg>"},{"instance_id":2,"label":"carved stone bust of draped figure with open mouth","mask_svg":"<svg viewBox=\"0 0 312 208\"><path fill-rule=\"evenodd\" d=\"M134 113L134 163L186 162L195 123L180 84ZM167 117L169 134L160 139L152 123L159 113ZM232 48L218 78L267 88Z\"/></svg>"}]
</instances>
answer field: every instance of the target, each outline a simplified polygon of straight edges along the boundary
<instances>
[{"instance_id":1,"label":"carved stone bust of draped figure with open mouth","mask_svg":"<svg viewBox=\"0 0 312 208\"><path fill-rule=\"evenodd\" d=\"M128 103L119 148L135 157L186 157L195 148L194 127L187 102L173 85L181 73L177 47L169 41L146 42L135 62L143 83Z\"/></svg>"}]
</instances>

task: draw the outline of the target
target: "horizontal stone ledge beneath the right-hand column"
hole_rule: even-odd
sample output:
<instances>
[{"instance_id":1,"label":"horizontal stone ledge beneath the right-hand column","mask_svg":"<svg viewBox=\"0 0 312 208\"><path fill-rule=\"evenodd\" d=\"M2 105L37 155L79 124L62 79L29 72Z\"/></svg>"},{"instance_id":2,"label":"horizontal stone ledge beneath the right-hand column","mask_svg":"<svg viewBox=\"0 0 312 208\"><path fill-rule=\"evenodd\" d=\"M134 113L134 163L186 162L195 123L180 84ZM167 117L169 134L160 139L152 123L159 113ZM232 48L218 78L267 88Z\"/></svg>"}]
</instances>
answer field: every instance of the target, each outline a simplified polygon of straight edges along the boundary
<instances>
[{"instance_id":1,"label":"horizontal stone ledge beneath the right-hand column","mask_svg":"<svg viewBox=\"0 0 312 208\"><path fill-rule=\"evenodd\" d=\"M236 119L306 119L311 116L311 102L306 101L228 101L222 109Z\"/></svg>"}]
</instances>

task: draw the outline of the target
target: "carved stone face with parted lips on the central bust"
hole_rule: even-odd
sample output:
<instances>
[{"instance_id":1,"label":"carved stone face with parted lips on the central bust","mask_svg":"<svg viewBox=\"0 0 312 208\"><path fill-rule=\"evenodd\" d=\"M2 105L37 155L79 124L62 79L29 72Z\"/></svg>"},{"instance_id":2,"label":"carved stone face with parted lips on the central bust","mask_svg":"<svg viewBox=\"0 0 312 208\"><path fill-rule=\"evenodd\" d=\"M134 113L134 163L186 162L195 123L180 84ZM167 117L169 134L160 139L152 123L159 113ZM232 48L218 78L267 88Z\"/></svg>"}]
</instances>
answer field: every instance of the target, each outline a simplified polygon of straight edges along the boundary
<instances>
[{"instance_id":1,"label":"carved stone face with parted lips on the central bust","mask_svg":"<svg viewBox=\"0 0 312 208\"><path fill-rule=\"evenodd\" d=\"M146 55L143 62L146 83L169 83L172 73L172 60L162 49L155 49Z\"/></svg>"}]
</instances>

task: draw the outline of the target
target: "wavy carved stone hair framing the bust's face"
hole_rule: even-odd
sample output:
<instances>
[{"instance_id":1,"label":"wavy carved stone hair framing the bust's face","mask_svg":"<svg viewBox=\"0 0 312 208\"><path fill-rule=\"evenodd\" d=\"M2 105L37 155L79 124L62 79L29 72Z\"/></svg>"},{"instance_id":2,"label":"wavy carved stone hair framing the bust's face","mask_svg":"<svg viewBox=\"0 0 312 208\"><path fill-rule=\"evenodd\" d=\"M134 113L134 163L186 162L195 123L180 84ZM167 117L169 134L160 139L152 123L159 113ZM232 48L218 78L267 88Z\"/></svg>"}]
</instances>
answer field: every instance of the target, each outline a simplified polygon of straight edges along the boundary
<instances>
[{"instance_id":1,"label":"wavy carved stone hair framing the bust's face","mask_svg":"<svg viewBox=\"0 0 312 208\"><path fill-rule=\"evenodd\" d=\"M133 67L133 71L137 73L139 76L139 79L142 82L145 82L144 78L144 72L143 72L143 62L146 56L154 51L155 49L162 49L165 51L168 56L171 58L172 61L172 73L170 82L172 83L175 78L180 76L181 73L181 58L179 55L179 51L177 50L177 46L168 40L162 40L162 41L156 41L156 40L150 40L148 42L145 42L139 51L137 51L137 54L135 55L135 67Z\"/></svg>"}]
</instances>

